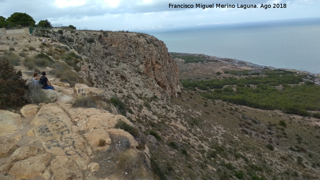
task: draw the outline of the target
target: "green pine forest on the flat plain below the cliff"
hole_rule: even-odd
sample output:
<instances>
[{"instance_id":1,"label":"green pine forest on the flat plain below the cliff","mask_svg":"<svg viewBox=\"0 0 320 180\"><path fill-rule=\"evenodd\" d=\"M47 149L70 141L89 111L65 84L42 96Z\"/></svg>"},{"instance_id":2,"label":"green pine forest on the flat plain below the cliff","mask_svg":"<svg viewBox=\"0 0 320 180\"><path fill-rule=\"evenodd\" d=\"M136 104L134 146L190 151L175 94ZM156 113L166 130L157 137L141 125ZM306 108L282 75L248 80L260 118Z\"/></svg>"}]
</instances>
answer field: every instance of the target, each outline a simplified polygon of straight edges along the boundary
<instances>
[{"instance_id":1,"label":"green pine forest on the flat plain below the cliff","mask_svg":"<svg viewBox=\"0 0 320 180\"><path fill-rule=\"evenodd\" d=\"M247 70L224 73L239 76L250 74ZM181 83L184 88L197 91L208 99L320 119L320 113L310 112L320 111L320 86L311 81L299 85L303 81L302 78L293 75L291 71L265 70L261 74L267 76L181 80Z\"/></svg>"}]
</instances>

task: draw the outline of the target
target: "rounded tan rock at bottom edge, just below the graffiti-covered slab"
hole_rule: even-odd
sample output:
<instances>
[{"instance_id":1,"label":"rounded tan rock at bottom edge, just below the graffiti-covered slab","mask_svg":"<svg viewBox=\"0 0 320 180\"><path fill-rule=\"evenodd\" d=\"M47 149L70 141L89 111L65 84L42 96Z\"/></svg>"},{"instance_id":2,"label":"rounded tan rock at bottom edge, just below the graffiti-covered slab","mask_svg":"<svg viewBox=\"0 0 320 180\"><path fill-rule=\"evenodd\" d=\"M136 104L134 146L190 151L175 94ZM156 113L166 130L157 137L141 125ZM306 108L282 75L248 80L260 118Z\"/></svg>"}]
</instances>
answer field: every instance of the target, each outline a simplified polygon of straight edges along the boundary
<instances>
[{"instance_id":1,"label":"rounded tan rock at bottom edge, just below the graffiti-covered slab","mask_svg":"<svg viewBox=\"0 0 320 180\"><path fill-rule=\"evenodd\" d=\"M51 170L55 180L83 179L82 172L76 163L64 156L56 156L56 158L51 161Z\"/></svg>"}]
</instances>

